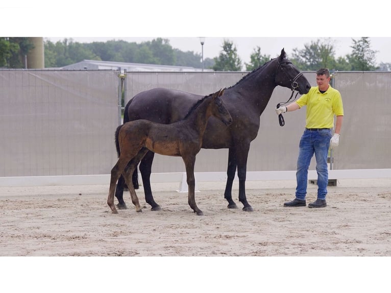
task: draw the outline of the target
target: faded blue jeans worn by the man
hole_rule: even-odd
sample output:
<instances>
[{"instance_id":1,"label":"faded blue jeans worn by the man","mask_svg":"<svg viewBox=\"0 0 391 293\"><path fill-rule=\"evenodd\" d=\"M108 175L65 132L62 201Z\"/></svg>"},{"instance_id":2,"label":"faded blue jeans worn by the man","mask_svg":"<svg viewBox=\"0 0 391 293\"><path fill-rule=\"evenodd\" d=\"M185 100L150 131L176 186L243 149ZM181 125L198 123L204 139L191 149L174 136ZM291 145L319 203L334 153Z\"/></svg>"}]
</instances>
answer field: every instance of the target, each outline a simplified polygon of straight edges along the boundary
<instances>
[{"instance_id":1,"label":"faded blue jeans worn by the man","mask_svg":"<svg viewBox=\"0 0 391 293\"><path fill-rule=\"evenodd\" d=\"M317 173L317 198L326 199L329 173L327 168L327 156L329 153L331 130L322 129L319 131L305 130L300 139L299 158L296 171L296 198L305 200L308 183L308 167L313 154L316 159Z\"/></svg>"}]
</instances>

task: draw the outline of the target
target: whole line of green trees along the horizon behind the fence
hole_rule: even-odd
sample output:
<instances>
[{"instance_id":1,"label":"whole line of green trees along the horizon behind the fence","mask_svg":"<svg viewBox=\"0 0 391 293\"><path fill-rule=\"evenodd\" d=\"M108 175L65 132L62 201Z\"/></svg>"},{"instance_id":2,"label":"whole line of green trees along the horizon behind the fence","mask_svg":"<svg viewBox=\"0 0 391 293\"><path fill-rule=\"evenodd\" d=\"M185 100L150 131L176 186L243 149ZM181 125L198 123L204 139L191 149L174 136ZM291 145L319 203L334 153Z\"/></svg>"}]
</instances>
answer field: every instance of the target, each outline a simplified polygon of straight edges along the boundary
<instances>
[{"instance_id":1,"label":"whole line of green trees along the horizon behind the fence","mask_svg":"<svg viewBox=\"0 0 391 293\"><path fill-rule=\"evenodd\" d=\"M33 47L27 37L0 37L0 68L25 68L25 56ZM352 39L351 48L351 54L336 57L332 39L317 39L304 44L302 49L294 48L288 58L302 71L315 71L321 67L339 71L391 69L389 63L376 66L377 51L372 50L368 37ZM217 57L204 59L204 68L216 71L242 70L236 46L230 40L224 40L222 49ZM173 48L168 39L163 38L141 43L123 40L79 43L72 39L53 43L45 40L44 50L46 68L63 67L84 59L202 68L201 54L182 52ZM245 63L246 70L254 70L270 59L270 55L262 55L261 47L256 46L250 56L250 62Z\"/></svg>"}]
</instances>

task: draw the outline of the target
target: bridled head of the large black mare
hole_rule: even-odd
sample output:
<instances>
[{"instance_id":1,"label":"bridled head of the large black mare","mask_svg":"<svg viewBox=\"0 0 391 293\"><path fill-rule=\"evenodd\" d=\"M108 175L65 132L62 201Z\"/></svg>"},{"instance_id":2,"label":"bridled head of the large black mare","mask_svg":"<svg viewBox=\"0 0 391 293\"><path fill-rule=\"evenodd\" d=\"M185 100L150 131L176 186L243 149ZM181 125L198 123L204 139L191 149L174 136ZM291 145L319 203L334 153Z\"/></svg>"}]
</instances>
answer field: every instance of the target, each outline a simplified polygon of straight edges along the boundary
<instances>
[{"instance_id":1,"label":"bridled head of the large black mare","mask_svg":"<svg viewBox=\"0 0 391 293\"><path fill-rule=\"evenodd\" d=\"M277 73L275 77L276 84L290 88L292 91L297 90L300 94L307 93L311 85L300 70L286 58L284 48L281 54L276 58Z\"/></svg>"}]
</instances>

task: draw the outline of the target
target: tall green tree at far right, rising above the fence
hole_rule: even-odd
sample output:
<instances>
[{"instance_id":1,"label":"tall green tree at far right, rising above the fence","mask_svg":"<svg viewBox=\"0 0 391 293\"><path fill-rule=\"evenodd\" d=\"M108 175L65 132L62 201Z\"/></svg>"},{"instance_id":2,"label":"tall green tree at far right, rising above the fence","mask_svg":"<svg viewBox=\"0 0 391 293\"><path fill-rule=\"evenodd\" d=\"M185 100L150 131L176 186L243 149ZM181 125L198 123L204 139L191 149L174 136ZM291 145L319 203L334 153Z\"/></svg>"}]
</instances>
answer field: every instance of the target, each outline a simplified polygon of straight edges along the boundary
<instances>
[{"instance_id":1,"label":"tall green tree at far right, rising above the fence","mask_svg":"<svg viewBox=\"0 0 391 293\"><path fill-rule=\"evenodd\" d=\"M353 45L350 46L353 51L351 55L347 55L347 59L351 64L351 70L370 71L376 70L375 59L377 51L371 49L371 41L368 37L361 37L358 40L352 39Z\"/></svg>"}]
</instances>

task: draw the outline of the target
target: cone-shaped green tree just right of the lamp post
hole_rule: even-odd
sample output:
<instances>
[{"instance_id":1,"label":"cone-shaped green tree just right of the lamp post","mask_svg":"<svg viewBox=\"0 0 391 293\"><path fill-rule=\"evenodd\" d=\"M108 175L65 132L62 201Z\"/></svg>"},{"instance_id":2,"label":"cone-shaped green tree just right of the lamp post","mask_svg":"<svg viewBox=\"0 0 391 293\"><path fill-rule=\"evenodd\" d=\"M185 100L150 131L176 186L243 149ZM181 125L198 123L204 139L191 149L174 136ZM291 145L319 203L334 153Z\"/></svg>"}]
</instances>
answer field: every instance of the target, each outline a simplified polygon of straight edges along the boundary
<instances>
[{"instance_id":1,"label":"cone-shaped green tree just right of the lamp post","mask_svg":"<svg viewBox=\"0 0 391 293\"><path fill-rule=\"evenodd\" d=\"M237 55L236 46L229 40L224 40L223 51L214 57L213 70L215 71L240 71L241 60Z\"/></svg>"}]
</instances>

